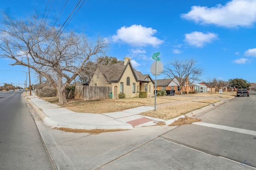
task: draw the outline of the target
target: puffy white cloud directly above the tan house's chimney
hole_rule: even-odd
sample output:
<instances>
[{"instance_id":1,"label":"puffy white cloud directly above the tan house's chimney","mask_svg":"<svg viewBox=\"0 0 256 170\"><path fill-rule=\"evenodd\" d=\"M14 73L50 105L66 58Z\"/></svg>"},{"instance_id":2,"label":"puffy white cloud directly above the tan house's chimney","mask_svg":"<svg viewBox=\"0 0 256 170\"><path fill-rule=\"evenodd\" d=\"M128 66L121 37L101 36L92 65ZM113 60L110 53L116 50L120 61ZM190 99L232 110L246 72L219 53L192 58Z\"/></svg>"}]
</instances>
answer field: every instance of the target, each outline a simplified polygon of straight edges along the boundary
<instances>
[{"instance_id":1,"label":"puffy white cloud directly above the tan house's chimney","mask_svg":"<svg viewBox=\"0 0 256 170\"><path fill-rule=\"evenodd\" d=\"M121 27L116 31L116 35L112 36L113 42L124 42L132 46L152 45L157 47L164 41L154 37L156 29L143 27L142 25L132 25L130 27Z\"/></svg>"}]
</instances>

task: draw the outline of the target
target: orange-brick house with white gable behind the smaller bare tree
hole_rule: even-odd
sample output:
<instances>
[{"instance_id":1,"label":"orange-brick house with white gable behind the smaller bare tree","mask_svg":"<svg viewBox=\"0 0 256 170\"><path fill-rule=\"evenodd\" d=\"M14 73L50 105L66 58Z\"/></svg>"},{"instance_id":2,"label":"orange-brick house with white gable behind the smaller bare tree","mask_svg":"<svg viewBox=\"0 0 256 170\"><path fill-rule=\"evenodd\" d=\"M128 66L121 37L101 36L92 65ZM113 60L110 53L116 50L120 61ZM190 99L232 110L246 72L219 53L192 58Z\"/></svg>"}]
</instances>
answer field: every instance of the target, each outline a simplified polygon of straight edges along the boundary
<instances>
[{"instance_id":1,"label":"orange-brick house with white gable behind the smaller bare tree","mask_svg":"<svg viewBox=\"0 0 256 170\"><path fill-rule=\"evenodd\" d=\"M175 94L180 94L180 88L177 85L178 80L176 78L166 78L156 80L156 90L175 90ZM194 92L194 85L187 80L185 86L182 88L182 92Z\"/></svg>"}]
</instances>

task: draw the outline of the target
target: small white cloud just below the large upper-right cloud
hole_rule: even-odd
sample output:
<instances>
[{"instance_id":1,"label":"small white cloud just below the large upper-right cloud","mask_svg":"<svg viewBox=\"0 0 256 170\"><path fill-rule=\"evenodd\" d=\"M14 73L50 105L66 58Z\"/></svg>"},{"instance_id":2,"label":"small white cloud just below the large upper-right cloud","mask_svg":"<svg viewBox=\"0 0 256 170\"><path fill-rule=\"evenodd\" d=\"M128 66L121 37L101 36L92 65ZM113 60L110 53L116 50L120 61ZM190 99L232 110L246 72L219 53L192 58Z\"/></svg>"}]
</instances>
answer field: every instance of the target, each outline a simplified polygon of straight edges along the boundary
<instances>
[{"instance_id":1,"label":"small white cloud just below the large upper-right cloud","mask_svg":"<svg viewBox=\"0 0 256 170\"><path fill-rule=\"evenodd\" d=\"M205 43L210 43L214 39L217 39L217 35L214 33L202 33L198 31L194 31L192 33L185 34L185 39L188 44L203 47Z\"/></svg>"}]
</instances>

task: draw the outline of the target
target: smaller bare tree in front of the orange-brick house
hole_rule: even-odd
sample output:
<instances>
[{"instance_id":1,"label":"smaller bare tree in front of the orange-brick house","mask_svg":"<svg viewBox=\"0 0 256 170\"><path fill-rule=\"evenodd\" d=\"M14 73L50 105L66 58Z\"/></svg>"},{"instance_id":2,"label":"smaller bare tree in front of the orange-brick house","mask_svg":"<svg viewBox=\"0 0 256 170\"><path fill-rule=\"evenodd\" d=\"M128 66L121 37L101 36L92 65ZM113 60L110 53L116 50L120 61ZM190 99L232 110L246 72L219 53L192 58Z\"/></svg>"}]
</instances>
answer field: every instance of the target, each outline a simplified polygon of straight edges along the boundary
<instances>
[{"instance_id":1,"label":"smaller bare tree in front of the orange-brick house","mask_svg":"<svg viewBox=\"0 0 256 170\"><path fill-rule=\"evenodd\" d=\"M174 81L180 88L180 94L182 94L182 87L186 85L186 81L197 82L199 76L203 73L203 69L196 67L195 59L186 60L174 60L174 62L164 66L163 73L169 78L176 78L177 82Z\"/></svg>"}]
</instances>

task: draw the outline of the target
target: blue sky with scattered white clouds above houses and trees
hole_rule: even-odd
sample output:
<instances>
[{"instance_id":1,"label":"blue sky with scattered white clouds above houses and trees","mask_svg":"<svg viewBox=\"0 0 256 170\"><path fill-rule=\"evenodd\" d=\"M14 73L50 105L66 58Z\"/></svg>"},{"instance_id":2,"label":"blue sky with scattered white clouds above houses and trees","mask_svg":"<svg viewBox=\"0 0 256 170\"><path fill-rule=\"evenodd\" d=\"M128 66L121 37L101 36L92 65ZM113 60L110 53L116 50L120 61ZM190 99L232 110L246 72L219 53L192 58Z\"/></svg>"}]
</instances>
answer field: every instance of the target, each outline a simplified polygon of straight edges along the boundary
<instances>
[{"instance_id":1,"label":"blue sky with scattered white clouds above houses and trees","mask_svg":"<svg viewBox=\"0 0 256 170\"><path fill-rule=\"evenodd\" d=\"M0 0L0 10L15 18L33 14L62 25L79 0ZM83 2L83 0L81 1ZM52 7L49 8L52 3ZM191 59L205 78L256 82L256 0L86 0L68 23L70 29L95 41L108 39L108 56L130 57L136 70L150 74L153 53L165 65ZM28 68L0 59L0 83L24 84ZM161 74L158 79L165 78ZM32 83L38 83L32 74ZM19 85L18 85L19 86Z\"/></svg>"}]
</instances>

